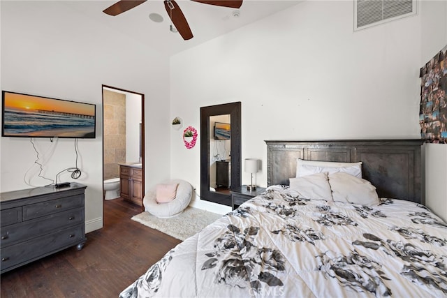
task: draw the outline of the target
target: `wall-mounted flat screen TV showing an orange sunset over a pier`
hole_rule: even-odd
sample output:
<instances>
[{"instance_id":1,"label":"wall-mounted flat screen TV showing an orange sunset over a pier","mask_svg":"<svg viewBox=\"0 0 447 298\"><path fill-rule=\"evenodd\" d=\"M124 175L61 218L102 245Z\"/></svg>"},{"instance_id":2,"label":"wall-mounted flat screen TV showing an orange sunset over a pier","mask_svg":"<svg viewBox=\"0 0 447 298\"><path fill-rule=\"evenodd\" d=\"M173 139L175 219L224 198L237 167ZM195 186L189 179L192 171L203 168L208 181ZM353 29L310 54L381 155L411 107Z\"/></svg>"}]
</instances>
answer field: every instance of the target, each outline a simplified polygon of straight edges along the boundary
<instances>
[{"instance_id":1,"label":"wall-mounted flat screen TV showing an orange sunset over a pier","mask_svg":"<svg viewBox=\"0 0 447 298\"><path fill-rule=\"evenodd\" d=\"M2 91L3 137L96 137L96 105Z\"/></svg>"}]
</instances>

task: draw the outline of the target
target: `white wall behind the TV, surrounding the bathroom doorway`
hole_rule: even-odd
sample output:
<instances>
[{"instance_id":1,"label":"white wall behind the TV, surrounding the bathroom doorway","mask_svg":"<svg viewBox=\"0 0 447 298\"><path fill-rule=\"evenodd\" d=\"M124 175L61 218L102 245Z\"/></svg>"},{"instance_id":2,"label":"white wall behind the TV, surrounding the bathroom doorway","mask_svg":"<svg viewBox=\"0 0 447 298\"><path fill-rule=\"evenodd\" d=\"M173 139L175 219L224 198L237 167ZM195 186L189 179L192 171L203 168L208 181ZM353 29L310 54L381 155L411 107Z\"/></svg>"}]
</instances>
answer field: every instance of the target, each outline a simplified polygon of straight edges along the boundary
<instances>
[{"instance_id":1,"label":"white wall behind the TV, surrounding the bathroom doorway","mask_svg":"<svg viewBox=\"0 0 447 298\"><path fill-rule=\"evenodd\" d=\"M97 136L79 140L77 181L87 185L86 232L103 225L101 85L145 94L146 188L169 177L168 58L78 13L64 1L1 1L1 89L97 105ZM166 125L163 125L166 124ZM156 128L156 129L152 129ZM73 167L73 140L59 140L42 174ZM36 140L41 152L48 139ZM29 188L29 139L1 138L1 191ZM68 179L69 180L69 179ZM48 181L36 179L36 186Z\"/></svg>"}]
</instances>

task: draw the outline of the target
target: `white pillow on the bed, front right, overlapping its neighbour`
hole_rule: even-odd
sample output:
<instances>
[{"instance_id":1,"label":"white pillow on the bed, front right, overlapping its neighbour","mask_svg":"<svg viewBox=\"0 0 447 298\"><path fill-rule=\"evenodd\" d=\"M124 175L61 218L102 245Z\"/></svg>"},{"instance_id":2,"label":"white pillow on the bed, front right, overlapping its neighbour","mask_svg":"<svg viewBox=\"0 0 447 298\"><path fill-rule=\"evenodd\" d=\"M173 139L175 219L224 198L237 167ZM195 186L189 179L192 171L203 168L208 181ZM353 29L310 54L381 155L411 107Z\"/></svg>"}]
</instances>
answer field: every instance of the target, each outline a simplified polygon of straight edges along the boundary
<instances>
[{"instance_id":1,"label":"white pillow on the bed, front right, overlapping its neighbour","mask_svg":"<svg viewBox=\"0 0 447 298\"><path fill-rule=\"evenodd\" d=\"M366 206L376 205L380 202L376 187L365 179L342 172L329 174L328 178L334 201Z\"/></svg>"}]
</instances>

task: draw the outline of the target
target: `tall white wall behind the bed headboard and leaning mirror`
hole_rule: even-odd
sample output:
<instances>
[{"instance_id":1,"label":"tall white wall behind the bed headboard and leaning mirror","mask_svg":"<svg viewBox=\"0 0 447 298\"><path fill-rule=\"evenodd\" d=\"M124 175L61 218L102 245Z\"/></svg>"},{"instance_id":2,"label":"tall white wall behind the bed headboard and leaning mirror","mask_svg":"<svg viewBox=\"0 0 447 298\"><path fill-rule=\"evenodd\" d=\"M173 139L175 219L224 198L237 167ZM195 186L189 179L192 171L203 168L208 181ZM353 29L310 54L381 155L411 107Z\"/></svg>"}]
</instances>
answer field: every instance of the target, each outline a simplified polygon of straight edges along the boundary
<instances>
[{"instance_id":1,"label":"tall white wall behind the bed headboard and leaning mirror","mask_svg":"<svg viewBox=\"0 0 447 298\"><path fill-rule=\"evenodd\" d=\"M427 27L445 28L439 14ZM173 56L171 116L198 127L200 107L241 101L242 160L262 160L261 186L264 140L420 138L421 19L353 32L353 1L305 1ZM200 146L186 151L177 139L171 174L198 188Z\"/></svg>"}]
</instances>

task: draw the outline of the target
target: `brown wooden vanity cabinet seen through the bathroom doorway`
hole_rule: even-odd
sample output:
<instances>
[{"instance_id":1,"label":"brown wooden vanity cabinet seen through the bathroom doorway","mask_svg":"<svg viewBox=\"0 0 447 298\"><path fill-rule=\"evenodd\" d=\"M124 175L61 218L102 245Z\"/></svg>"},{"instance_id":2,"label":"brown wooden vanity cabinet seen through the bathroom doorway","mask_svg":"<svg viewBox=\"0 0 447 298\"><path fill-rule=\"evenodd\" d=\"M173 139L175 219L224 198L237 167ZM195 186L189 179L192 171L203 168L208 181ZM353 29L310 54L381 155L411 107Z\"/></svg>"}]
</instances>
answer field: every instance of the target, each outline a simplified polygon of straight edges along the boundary
<instances>
[{"instance_id":1,"label":"brown wooden vanity cabinet seen through the bathroom doorway","mask_svg":"<svg viewBox=\"0 0 447 298\"><path fill-rule=\"evenodd\" d=\"M119 165L120 196L142 206L142 169L133 165Z\"/></svg>"}]
</instances>

